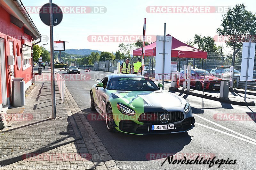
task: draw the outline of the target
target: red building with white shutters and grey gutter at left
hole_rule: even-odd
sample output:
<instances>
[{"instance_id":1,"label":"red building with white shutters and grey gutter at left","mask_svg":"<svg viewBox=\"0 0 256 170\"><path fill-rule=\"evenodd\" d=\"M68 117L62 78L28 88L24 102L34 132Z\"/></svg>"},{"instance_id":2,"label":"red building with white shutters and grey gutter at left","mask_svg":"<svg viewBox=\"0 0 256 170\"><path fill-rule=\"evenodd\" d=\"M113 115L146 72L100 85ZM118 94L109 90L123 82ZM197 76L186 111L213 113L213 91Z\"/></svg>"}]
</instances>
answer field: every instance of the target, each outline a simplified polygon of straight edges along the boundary
<instances>
[{"instance_id":1,"label":"red building with white shutters and grey gutter at left","mask_svg":"<svg viewBox=\"0 0 256 170\"><path fill-rule=\"evenodd\" d=\"M12 78L32 83L32 41L40 38L20 0L0 0L0 110L12 104Z\"/></svg>"}]
</instances>

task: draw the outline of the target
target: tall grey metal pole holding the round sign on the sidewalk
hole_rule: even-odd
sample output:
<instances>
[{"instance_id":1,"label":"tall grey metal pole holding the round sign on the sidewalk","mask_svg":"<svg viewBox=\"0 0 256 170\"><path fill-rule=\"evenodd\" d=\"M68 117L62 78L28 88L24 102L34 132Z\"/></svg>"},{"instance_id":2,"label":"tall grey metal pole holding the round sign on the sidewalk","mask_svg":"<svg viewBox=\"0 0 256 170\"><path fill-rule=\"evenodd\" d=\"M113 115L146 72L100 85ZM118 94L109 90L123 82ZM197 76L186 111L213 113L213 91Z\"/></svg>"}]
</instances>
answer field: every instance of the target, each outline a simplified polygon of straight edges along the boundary
<instances>
[{"instance_id":1,"label":"tall grey metal pole holding the round sign on the sidewalk","mask_svg":"<svg viewBox=\"0 0 256 170\"><path fill-rule=\"evenodd\" d=\"M53 14L52 0L50 0L50 44L51 44L51 86L52 86L52 119L56 119L56 98L54 79L54 52L53 52Z\"/></svg>"}]
</instances>

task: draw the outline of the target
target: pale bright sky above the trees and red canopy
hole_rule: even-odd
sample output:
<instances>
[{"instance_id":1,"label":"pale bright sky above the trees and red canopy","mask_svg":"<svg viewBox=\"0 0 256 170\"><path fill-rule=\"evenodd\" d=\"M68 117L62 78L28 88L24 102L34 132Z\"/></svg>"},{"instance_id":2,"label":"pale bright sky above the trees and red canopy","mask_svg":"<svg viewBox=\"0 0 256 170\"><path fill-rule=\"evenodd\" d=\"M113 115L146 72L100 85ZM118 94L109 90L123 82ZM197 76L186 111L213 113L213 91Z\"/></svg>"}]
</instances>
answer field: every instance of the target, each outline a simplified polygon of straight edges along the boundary
<instances>
[{"instance_id":1,"label":"pale bright sky above the trees and red canopy","mask_svg":"<svg viewBox=\"0 0 256 170\"><path fill-rule=\"evenodd\" d=\"M49 1L22 0L24 6L42 6ZM223 13L148 13L147 6L231 6L244 3L247 10L256 13L256 1L238 0L53 0L59 6L104 6L104 14L70 14L66 13L60 25L54 27L54 41L68 41L66 49L95 49L100 51L116 52L118 43L115 42L88 42L89 35L141 35L143 18L147 18L146 34L163 35L164 22L166 33L180 41L193 39L195 34L202 36L217 35ZM38 13L30 13L39 32L49 37L50 29L40 20ZM50 44L50 40L47 41ZM43 42L44 44L46 42ZM39 45L42 45L40 43ZM50 49L49 45L44 46ZM229 48L225 48L230 51Z\"/></svg>"}]
</instances>

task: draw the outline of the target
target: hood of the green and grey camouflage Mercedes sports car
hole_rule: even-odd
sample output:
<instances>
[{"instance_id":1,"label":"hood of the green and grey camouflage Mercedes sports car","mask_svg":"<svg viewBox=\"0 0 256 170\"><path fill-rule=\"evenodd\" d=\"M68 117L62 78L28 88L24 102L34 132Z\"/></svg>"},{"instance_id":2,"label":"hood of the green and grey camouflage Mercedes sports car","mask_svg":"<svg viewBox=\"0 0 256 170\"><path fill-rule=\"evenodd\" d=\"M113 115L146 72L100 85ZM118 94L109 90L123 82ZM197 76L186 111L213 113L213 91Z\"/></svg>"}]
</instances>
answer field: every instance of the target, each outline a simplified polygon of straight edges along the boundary
<instances>
[{"instance_id":1,"label":"hood of the green and grey camouflage Mercedes sports car","mask_svg":"<svg viewBox=\"0 0 256 170\"><path fill-rule=\"evenodd\" d=\"M121 103L130 107L181 107L183 98L165 92L162 90L157 91L117 91L114 95L120 99Z\"/></svg>"}]
</instances>

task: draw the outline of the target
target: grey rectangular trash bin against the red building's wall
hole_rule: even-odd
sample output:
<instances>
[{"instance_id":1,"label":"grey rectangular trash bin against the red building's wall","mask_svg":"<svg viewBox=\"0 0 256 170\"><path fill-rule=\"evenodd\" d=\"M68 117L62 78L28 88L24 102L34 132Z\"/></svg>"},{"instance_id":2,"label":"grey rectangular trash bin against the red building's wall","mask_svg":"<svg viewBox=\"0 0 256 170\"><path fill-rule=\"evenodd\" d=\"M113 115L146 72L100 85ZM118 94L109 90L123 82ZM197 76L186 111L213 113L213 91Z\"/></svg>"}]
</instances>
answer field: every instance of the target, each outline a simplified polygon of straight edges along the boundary
<instances>
[{"instance_id":1,"label":"grey rectangular trash bin against the red building's wall","mask_svg":"<svg viewBox=\"0 0 256 170\"><path fill-rule=\"evenodd\" d=\"M13 78L12 80L12 106L20 107L26 105L24 78Z\"/></svg>"}]
</instances>

